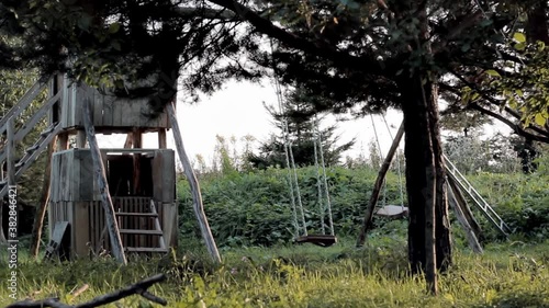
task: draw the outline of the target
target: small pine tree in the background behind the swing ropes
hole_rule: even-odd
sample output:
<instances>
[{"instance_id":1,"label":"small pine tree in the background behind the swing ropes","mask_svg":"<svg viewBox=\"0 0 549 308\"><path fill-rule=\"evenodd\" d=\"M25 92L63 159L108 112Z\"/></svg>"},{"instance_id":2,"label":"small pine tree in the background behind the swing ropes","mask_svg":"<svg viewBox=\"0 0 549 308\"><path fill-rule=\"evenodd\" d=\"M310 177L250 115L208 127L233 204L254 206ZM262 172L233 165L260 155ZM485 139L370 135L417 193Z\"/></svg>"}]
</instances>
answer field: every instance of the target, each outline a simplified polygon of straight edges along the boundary
<instances>
[{"instance_id":1,"label":"small pine tree in the background behind the swing ropes","mask_svg":"<svg viewBox=\"0 0 549 308\"><path fill-rule=\"evenodd\" d=\"M335 135L336 125L323 129L320 128L322 119L317 119L312 101L322 99L310 94L305 89L301 88L291 91L285 95L287 101L282 112L277 111L273 106L266 105L267 111L274 119L278 133L272 134L270 140L261 144L258 155L250 153L248 156L248 161L254 168L287 167L284 149L285 123L288 123L288 142L291 145L296 167L315 164L314 147L315 140L317 140L317 129L320 130L320 139L322 140L326 166L337 164L343 152L352 147L355 139L343 145L337 145L339 136ZM316 146L318 147L318 144ZM320 147L317 151L320 151ZM320 152L317 157L320 163Z\"/></svg>"}]
</instances>

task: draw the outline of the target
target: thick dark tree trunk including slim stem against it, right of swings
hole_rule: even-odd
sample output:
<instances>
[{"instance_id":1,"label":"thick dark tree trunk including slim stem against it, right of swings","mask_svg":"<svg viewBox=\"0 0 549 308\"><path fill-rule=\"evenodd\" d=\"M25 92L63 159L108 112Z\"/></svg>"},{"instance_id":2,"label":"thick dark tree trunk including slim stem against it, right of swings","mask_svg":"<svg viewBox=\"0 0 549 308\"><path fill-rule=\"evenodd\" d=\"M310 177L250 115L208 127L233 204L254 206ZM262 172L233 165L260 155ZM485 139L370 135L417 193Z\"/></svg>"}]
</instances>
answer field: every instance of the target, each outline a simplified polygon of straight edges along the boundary
<instances>
[{"instance_id":1,"label":"thick dark tree trunk including slim stem against it, right of swings","mask_svg":"<svg viewBox=\"0 0 549 308\"><path fill-rule=\"evenodd\" d=\"M436 293L436 273L451 264L451 241L446 196L436 83L414 76L400 82L403 98L408 196L408 258L413 273L424 272Z\"/></svg>"}]
</instances>

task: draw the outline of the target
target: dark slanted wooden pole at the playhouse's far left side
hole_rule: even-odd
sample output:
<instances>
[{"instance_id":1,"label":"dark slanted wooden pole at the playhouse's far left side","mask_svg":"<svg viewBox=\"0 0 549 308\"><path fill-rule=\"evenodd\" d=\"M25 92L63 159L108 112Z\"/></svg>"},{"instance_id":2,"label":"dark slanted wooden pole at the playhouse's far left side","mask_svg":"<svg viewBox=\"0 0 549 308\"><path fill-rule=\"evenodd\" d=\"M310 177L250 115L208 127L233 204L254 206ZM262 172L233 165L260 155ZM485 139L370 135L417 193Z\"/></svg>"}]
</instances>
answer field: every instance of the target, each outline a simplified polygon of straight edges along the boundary
<instances>
[{"instance_id":1,"label":"dark slanted wooden pole at the playhouse's far left side","mask_svg":"<svg viewBox=\"0 0 549 308\"><path fill-rule=\"evenodd\" d=\"M49 202L49 178L52 170L52 156L55 150L56 138L49 142L47 146L47 159L46 159L46 168L44 170L44 180L42 182L42 193L40 198L40 207L36 209L34 214L34 223L31 238L31 256L37 258L40 250L40 240L42 238L42 229L44 227L44 217L46 216L47 204Z\"/></svg>"}]
</instances>

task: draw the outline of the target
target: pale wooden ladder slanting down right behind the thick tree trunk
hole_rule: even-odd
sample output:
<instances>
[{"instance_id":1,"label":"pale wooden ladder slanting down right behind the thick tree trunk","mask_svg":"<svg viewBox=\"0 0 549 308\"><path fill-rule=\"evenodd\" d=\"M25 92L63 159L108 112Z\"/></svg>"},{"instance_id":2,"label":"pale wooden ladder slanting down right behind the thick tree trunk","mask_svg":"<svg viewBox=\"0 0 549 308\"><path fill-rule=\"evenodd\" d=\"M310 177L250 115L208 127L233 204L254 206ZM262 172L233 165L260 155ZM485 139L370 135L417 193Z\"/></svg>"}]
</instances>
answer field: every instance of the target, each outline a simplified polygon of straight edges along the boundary
<instances>
[{"instance_id":1,"label":"pale wooden ladder slanting down right behind the thick tree trunk","mask_svg":"<svg viewBox=\"0 0 549 308\"><path fill-rule=\"evenodd\" d=\"M446 171L448 176L453 180L458 186L473 202L473 205L488 218L488 220L505 237L512 232L511 228L497 215L494 208L477 192L477 190L467 181L466 176L459 172L456 166L445 156Z\"/></svg>"}]
</instances>

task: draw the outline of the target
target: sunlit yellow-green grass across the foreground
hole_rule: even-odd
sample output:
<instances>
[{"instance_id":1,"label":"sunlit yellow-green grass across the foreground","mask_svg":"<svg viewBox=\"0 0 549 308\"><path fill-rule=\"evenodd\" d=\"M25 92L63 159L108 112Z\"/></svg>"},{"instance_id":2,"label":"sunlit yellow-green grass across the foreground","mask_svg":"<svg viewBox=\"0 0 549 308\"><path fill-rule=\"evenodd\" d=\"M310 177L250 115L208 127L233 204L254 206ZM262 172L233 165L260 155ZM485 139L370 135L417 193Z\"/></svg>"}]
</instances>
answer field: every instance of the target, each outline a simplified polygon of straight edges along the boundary
<instances>
[{"instance_id":1,"label":"sunlit yellow-green grass across the foreground","mask_svg":"<svg viewBox=\"0 0 549 308\"><path fill-rule=\"evenodd\" d=\"M406 247L399 239L374 239L359 250L351 240L325 249L237 249L223 258L224 264L214 266L197 251L120 267L109 259L52 264L22 255L19 292L22 298L57 295L77 304L166 273L169 280L153 292L169 307L549 307L549 242L491 244L483 255L457 251L437 297L426 295L421 277L407 274ZM70 290L83 284L90 288L71 299ZM2 287L0 305L11 303L8 295ZM120 303L149 307L136 296Z\"/></svg>"}]
</instances>

